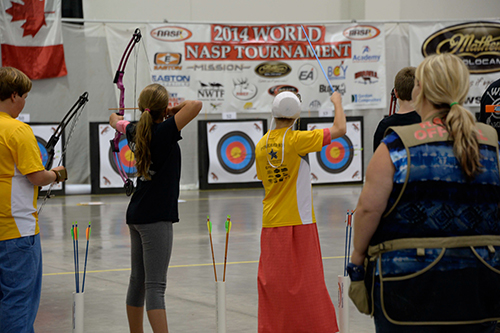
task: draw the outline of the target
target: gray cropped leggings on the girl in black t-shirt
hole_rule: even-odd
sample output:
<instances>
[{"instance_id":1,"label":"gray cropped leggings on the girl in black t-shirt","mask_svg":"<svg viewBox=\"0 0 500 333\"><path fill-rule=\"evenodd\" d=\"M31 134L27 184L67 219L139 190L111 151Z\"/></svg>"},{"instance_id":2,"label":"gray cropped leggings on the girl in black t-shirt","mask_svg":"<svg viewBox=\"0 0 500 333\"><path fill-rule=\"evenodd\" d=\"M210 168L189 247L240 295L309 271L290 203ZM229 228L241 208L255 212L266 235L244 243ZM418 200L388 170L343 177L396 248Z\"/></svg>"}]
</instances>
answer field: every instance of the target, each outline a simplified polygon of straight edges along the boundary
<instances>
[{"instance_id":1,"label":"gray cropped leggings on the girl in black t-shirt","mask_svg":"<svg viewBox=\"0 0 500 333\"><path fill-rule=\"evenodd\" d=\"M129 224L132 269L127 305L165 309L167 269L172 254L172 222Z\"/></svg>"}]
</instances>

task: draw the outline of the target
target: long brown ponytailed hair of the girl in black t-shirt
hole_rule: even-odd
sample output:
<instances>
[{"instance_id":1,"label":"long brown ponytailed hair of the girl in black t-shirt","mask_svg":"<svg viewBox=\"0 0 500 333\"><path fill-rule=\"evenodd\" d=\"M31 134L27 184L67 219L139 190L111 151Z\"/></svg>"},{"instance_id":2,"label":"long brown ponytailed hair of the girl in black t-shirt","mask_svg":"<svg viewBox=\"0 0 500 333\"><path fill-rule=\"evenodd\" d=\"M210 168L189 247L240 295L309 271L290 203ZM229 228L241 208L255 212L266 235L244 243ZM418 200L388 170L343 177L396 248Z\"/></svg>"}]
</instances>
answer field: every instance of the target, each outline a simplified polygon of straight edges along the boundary
<instances>
[{"instance_id":1,"label":"long brown ponytailed hair of the girl in black t-shirt","mask_svg":"<svg viewBox=\"0 0 500 333\"><path fill-rule=\"evenodd\" d=\"M139 95L139 109L142 114L135 133L135 166L137 175L147 180L151 179L149 167L151 165L150 145L153 124L165 117L168 98L167 89L156 83L148 85Z\"/></svg>"}]
</instances>

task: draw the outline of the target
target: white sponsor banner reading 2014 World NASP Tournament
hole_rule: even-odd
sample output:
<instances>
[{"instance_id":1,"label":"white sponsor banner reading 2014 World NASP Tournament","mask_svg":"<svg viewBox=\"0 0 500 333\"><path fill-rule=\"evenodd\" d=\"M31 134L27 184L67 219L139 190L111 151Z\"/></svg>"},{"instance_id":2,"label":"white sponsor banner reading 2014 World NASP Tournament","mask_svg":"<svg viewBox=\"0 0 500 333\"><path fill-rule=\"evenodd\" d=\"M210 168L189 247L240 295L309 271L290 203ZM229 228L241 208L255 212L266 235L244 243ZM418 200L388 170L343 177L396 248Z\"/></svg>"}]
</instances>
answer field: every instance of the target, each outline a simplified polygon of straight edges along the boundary
<instances>
[{"instance_id":1,"label":"white sponsor banner reading 2014 World NASP Tournament","mask_svg":"<svg viewBox=\"0 0 500 333\"><path fill-rule=\"evenodd\" d=\"M304 26L345 109L386 107L383 24ZM303 111L331 109L331 89L299 24L149 24L151 80L209 113L271 109L292 91Z\"/></svg>"}]
</instances>

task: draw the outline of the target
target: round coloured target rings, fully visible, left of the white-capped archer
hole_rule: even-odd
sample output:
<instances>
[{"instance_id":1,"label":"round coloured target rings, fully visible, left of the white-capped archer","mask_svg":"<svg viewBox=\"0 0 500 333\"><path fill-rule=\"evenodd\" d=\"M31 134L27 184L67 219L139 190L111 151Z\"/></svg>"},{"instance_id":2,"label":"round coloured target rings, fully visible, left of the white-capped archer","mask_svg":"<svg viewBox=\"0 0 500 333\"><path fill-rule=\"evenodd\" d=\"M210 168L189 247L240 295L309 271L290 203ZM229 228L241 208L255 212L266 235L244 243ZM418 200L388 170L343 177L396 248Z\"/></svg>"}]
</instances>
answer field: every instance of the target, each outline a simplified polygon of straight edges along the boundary
<instances>
[{"instance_id":1,"label":"round coloured target rings, fully visible, left of the white-capped archer","mask_svg":"<svg viewBox=\"0 0 500 333\"><path fill-rule=\"evenodd\" d=\"M255 145L240 131L225 134L217 144L219 163L229 173L240 174L250 169L255 161Z\"/></svg>"}]
</instances>

